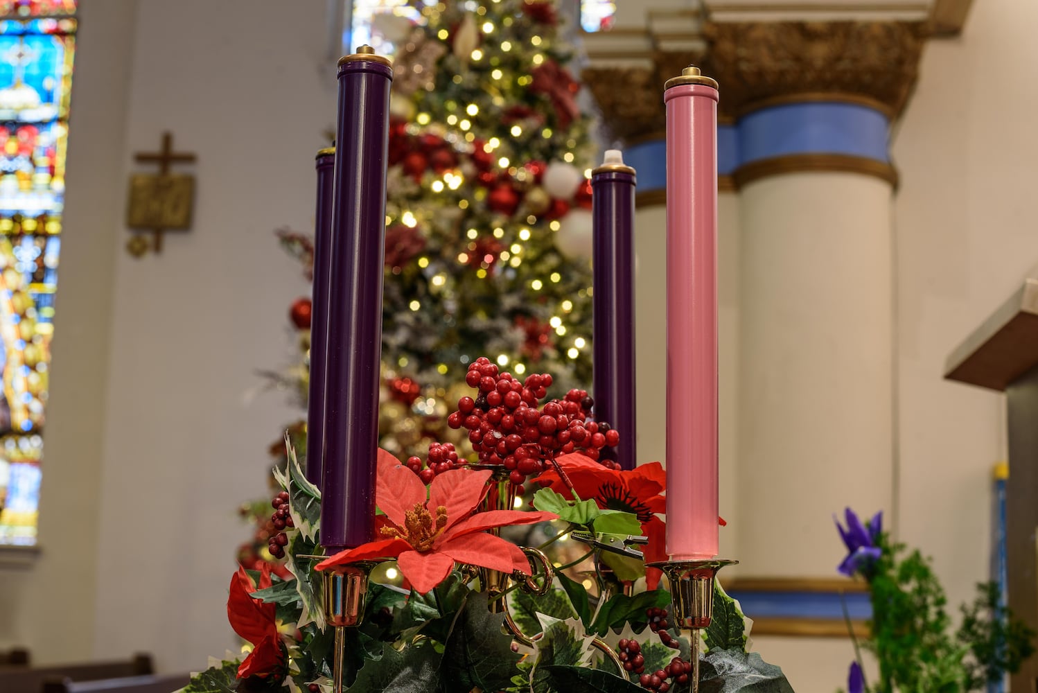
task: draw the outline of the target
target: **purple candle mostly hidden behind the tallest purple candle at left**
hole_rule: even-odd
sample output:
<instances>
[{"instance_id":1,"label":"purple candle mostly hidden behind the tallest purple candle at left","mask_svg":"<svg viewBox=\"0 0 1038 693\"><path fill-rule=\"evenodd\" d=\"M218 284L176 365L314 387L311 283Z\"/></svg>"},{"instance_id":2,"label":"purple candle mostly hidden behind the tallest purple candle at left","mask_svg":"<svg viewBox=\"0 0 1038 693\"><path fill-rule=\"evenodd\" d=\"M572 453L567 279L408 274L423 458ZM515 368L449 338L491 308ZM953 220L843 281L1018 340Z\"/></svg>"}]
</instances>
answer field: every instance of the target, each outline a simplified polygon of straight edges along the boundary
<instances>
[{"instance_id":1,"label":"purple candle mostly hidden behind the tallest purple candle at left","mask_svg":"<svg viewBox=\"0 0 1038 693\"><path fill-rule=\"evenodd\" d=\"M319 489L324 453L328 294L331 274L331 196L335 147L318 151L318 209L313 223L313 301L310 320L310 391L306 401L306 478Z\"/></svg>"}]
</instances>

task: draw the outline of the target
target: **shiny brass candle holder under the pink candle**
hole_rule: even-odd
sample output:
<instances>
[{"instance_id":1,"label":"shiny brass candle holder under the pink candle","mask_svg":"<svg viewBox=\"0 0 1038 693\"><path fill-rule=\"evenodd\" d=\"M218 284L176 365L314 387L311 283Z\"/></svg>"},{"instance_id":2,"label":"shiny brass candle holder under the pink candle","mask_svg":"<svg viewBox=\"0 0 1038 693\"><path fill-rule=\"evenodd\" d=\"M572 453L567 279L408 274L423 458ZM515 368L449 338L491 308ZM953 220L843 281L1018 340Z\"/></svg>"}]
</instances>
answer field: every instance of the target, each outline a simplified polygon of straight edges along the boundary
<instances>
[{"instance_id":1,"label":"shiny brass candle holder under the pink candle","mask_svg":"<svg viewBox=\"0 0 1038 693\"><path fill-rule=\"evenodd\" d=\"M700 690L700 631L710 625L713 616L714 578L726 565L737 560L665 560L649 563L666 576L671 592L671 617L681 631L688 632L689 660L692 673L689 691Z\"/></svg>"}]
</instances>

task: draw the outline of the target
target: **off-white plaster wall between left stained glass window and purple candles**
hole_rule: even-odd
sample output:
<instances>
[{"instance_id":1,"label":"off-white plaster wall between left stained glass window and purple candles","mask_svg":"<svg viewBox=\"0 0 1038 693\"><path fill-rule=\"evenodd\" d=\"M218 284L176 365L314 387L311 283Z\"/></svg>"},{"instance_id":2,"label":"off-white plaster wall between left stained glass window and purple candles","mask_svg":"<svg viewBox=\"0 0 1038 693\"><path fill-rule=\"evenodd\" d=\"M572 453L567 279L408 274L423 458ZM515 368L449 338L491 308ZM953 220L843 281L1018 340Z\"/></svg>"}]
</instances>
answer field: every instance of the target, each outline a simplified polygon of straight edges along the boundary
<instances>
[{"instance_id":1,"label":"off-white plaster wall between left stained glass window and purple candles","mask_svg":"<svg viewBox=\"0 0 1038 693\"><path fill-rule=\"evenodd\" d=\"M272 231L312 227L335 75L323 2L135 4L118 186L168 130L198 157L197 197L193 230L168 234L162 255L129 256L121 229L109 246L93 654L188 670L236 646L224 605L250 532L236 509L267 493L267 446L298 415L284 395L244 394L296 353L286 313L308 286Z\"/></svg>"}]
</instances>

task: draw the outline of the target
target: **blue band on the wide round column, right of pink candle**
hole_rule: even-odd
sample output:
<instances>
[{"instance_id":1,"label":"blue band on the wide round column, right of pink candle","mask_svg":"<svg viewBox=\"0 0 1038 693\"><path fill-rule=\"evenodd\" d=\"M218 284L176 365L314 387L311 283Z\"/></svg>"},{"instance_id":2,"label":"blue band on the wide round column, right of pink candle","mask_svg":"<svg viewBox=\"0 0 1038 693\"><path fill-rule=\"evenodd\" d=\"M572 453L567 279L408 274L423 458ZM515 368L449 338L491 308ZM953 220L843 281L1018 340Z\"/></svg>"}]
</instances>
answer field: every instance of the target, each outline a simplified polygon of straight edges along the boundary
<instances>
[{"instance_id":1,"label":"blue band on the wide round column, right of pink candle","mask_svg":"<svg viewBox=\"0 0 1038 693\"><path fill-rule=\"evenodd\" d=\"M739 120L740 165L798 154L841 154L890 163L890 121L867 106L787 104Z\"/></svg>"}]
</instances>

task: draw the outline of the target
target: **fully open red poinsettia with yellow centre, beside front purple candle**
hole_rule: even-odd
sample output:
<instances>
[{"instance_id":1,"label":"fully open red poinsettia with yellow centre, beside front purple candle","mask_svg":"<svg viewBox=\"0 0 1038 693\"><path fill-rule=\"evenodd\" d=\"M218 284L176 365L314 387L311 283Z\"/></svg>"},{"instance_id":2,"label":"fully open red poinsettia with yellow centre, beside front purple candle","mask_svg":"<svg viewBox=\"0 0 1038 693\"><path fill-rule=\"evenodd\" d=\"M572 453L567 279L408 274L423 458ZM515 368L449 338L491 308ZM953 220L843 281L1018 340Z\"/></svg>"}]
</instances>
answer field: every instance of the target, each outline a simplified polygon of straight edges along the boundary
<instances>
[{"instance_id":1,"label":"fully open red poinsettia with yellow centre, beside front purple candle","mask_svg":"<svg viewBox=\"0 0 1038 693\"><path fill-rule=\"evenodd\" d=\"M455 561L492 571L529 573L519 547L484 530L554 520L552 512L488 510L472 514L489 489L489 470L455 469L437 474L429 487L392 454L379 450L375 500L385 514L389 537L326 558L319 571L374 558L395 558L401 574L425 594L450 574Z\"/></svg>"}]
</instances>

